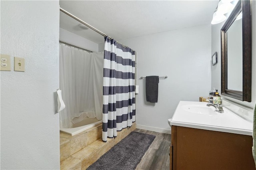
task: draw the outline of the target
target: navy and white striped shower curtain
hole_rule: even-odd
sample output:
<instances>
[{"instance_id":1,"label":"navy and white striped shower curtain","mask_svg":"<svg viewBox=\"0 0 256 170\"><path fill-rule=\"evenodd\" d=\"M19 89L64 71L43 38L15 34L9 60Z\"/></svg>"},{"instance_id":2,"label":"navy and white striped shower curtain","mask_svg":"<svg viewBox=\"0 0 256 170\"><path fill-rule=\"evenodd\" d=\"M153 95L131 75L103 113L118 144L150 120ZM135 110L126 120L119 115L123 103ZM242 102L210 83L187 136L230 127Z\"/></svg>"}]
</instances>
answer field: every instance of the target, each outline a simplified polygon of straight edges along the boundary
<instances>
[{"instance_id":1,"label":"navy and white striped shower curtain","mask_svg":"<svg viewBox=\"0 0 256 170\"><path fill-rule=\"evenodd\" d=\"M102 140L135 122L135 51L105 37Z\"/></svg>"}]
</instances>

